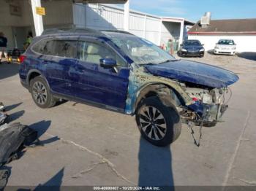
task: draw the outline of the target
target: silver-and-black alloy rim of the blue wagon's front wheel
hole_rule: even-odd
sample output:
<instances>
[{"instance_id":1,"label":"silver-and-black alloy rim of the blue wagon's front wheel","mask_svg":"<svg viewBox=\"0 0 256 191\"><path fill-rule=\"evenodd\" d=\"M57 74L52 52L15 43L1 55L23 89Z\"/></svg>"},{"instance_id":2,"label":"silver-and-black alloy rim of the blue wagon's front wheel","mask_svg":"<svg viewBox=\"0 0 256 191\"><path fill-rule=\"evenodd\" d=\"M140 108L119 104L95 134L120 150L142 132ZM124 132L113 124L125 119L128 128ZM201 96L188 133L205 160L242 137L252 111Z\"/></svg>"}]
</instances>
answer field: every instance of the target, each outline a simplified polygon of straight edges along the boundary
<instances>
[{"instance_id":1,"label":"silver-and-black alloy rim of the blue wagon's front wheel","mask_svg":"<svg viewBox=\"0 0 256 191\"><path fill-rule=\"evenodd\" d=\"M165 117L154 106L144 106L140 110L140 127L148 138L156 141L163 139L167 131Z\"/></svg>"}]
</instances>

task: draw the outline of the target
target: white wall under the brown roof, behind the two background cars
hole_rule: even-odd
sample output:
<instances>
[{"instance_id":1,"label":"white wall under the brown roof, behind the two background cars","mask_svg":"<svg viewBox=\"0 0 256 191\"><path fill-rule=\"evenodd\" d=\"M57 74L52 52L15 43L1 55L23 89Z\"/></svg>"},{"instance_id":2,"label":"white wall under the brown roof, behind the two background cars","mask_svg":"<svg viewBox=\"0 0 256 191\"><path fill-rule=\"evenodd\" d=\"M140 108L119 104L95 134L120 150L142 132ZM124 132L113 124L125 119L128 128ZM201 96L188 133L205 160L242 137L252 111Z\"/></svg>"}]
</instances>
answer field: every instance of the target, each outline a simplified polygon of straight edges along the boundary
<instances>
[{"instance_id":1,"label":"white wall under the brown roof, behind the two background cars","mask_svg":"<svg viewBox=\"0 0 256 191\"><path fill-rule=\"evenodd\" d=\"M206 50L213 50L219 39L233 39L236 52L256 52L256 35L189 35L189 39L200 40Z\"/></svg>"}]
</instances>

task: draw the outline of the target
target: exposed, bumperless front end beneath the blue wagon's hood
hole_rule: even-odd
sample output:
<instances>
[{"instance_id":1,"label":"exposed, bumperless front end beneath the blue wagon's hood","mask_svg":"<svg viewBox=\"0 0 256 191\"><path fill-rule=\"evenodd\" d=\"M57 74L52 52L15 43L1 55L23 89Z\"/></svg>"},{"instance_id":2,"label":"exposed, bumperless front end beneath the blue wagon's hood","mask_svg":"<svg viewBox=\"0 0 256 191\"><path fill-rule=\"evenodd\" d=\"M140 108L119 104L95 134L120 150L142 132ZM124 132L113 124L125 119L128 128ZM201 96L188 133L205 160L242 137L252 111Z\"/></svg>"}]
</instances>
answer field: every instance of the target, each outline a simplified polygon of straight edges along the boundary
<instances>
[{"instance_id":1,"label":"exposed, bumperless front end beneath the blue wagon's hood","mask_svg":"<svg viewBox=\"0 0 256 191\"><path fill-rule=\"evenodd\" d=\"M181 120L184 123L193 122L194 125L211 127L217 122L222 122L222 115L231 97L231 90L228 87L212 88L184 84L183 88L195 101L194 104L180 109Z\"/></svg>"}]
</instances>

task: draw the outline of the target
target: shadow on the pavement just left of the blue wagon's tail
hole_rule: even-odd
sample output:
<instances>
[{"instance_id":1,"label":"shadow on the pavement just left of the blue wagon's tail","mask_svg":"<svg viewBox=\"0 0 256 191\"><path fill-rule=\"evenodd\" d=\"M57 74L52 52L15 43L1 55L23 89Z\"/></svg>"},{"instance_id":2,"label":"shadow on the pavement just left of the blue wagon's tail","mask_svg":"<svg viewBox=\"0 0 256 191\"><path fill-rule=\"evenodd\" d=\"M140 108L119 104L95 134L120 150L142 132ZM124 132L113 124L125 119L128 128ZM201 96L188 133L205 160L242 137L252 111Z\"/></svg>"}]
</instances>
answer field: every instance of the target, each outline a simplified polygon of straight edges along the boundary
<instances>
[{"instance_id":1,"label":"shadow on the pavement just left of the blue wagon's tail","mask_svg":"<svg viewBox=\"0 0 256 191\"><path fill-rule=\"evenodd\" d=\"M0 64L0 80L7 78L7 77L12 77L18 74L20 65L15 64L15 63L1 63Z\"/></svg>"}]
</instances>

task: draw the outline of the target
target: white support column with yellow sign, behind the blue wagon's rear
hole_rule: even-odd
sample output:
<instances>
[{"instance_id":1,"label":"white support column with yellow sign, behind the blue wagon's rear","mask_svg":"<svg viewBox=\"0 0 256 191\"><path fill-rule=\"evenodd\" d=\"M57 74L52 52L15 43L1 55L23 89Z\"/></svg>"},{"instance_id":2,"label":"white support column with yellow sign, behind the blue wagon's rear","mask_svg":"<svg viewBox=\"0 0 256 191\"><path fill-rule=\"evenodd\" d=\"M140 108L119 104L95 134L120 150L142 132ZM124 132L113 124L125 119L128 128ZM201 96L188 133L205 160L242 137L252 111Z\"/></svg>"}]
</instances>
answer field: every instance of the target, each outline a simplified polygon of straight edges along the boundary
<instances>
[{"instance_id":1,"label":"white support column with yellow sign, behind the blue wagon's rear","mask_svg":"<svg viewBox=\"0 0 256 191\"><path fill-rule=\"evenodd\" d=\"M37 15L36 7L41 7L41 0L31 0L32 13L34 18L34 29L36 31L36 36L40 36L42 31L44 31L44 26L42 24L42 15Z\"/></svg>"}]
</instances>

